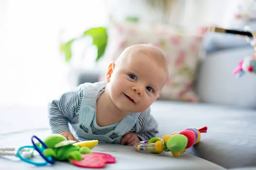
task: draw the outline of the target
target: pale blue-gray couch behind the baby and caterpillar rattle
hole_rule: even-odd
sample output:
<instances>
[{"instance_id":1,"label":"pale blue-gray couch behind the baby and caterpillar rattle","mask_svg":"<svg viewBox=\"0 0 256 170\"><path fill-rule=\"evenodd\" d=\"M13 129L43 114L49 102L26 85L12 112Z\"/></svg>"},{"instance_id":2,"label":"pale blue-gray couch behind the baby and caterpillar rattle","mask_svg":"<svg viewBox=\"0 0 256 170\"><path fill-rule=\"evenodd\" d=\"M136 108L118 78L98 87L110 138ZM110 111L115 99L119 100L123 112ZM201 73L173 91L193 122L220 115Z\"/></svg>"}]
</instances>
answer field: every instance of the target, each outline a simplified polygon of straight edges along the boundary
<instances>
[{"instance_id":1,"label":"pale blue-gray couch behind the baby and caterpillar rattle","mask_svg":"<svg viewBox=\"0 0 256 170\"><path fill-rule=\"evenodd\" d=\"M159 137L187 126L208 126L197 146L187 153L224 168L256 169L256 76L232 75L238 62L254 49L245 39L228 34L208 34L207 52L198 68L195 88L203 103L158 101L154 117L160 123ZM78 84L97 81L97 72L78 75Z\"/></svg>"}]
</instances>

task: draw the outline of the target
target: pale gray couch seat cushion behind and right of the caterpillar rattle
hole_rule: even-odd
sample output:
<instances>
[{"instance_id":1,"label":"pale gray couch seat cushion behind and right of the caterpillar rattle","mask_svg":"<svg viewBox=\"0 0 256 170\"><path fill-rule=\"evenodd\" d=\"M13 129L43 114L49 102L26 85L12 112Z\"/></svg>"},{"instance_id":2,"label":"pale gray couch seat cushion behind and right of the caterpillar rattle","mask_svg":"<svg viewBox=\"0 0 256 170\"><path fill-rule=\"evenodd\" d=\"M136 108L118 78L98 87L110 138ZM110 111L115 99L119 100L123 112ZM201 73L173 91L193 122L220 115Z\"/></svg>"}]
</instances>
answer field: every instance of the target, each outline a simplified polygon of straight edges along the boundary
<instances>
[{"instance_id":1,"label":"pale gray couch seat cushion behind and right of the caterpillar rattle","mask_svg":"<svg viewBox=\"0 0 256 170\"><path fill-rule=\"evenodd\" d=\"M256 110L159 101L151 111L159 122L159 137L189 126L208 126L208 132L187 153L225 168L256 166Z\"/></svg>"}]
</instances>

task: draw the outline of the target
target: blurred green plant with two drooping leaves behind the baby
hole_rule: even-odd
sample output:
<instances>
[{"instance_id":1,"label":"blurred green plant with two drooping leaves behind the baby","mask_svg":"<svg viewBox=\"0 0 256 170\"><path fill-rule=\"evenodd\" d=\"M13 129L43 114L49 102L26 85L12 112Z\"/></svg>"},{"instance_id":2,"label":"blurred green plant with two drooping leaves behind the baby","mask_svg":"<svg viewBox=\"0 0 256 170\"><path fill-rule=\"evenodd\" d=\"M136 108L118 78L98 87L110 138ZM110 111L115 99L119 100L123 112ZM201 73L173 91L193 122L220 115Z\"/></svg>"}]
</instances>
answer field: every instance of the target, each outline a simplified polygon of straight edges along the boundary
<instances>
[{"instance_id":1,"label":"blurred green plant with two drooping leaves behind the baby","mask_svg":"<svg viewBox=\"0 0 256 170\"><path fill-rule=\"evenodd\" d=\"M74 41L85 36L91 36L93 41L92 45L95 45L97 47L96 62L103 56L108 40L107 28L95 27L86 30L84 34L82 34L78 38L71 39L68 42L60 45L60 51L64 53L66 62L68 62L72 57L71 46Z\"/></svg>"}]
</instances>

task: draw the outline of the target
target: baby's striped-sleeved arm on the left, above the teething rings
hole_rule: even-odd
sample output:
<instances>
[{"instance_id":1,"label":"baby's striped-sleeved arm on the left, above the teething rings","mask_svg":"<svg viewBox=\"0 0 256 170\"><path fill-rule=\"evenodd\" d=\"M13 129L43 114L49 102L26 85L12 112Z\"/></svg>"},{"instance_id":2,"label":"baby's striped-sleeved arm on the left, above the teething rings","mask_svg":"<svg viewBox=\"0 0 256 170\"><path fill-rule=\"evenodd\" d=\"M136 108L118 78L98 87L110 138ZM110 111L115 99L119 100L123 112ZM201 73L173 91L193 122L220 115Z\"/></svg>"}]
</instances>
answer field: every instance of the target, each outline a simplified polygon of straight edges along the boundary
<instances>
[{"instance_id":1,"label":"baby's striped-sleeved arm on the left, above the teething rings","mask_svg":"<svg viewBox=\"0 0 256 170\"><path fill-rule=\"evenodd\" d=\"M77 87L75 90L66 92L57 100L49 103L49 124L53 134L70 132L68 123L78 123L78 115L76 113L80 109L83 96L83 89Z\"/></svg>"}]
</instances>

